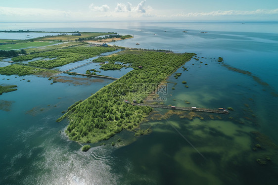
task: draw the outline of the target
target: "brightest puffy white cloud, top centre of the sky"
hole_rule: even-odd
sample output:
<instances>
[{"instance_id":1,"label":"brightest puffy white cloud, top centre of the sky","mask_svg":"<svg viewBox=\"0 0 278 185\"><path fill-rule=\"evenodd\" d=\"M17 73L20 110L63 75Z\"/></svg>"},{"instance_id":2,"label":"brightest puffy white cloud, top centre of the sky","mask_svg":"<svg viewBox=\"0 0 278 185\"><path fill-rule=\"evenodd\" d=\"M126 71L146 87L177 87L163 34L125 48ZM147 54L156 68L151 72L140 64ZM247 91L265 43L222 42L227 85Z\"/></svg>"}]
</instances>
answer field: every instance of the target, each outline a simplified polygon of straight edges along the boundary
<instances>
[{"instance_id":1,"label":"brightest puffy white cloud, top centre of the sky","mask_svg":"<svg viewBox=\"0 0 278 185\"><path fill-rule=\"evenodd\" d=\"M146 0L142 0L137 6L133 6L130 2L127 4L124 3L117 3L117 6L115 8L115 12L139 12L139 13L145 13L146 9L149 9L144 7Z\"/></svg>"}]
</instances>

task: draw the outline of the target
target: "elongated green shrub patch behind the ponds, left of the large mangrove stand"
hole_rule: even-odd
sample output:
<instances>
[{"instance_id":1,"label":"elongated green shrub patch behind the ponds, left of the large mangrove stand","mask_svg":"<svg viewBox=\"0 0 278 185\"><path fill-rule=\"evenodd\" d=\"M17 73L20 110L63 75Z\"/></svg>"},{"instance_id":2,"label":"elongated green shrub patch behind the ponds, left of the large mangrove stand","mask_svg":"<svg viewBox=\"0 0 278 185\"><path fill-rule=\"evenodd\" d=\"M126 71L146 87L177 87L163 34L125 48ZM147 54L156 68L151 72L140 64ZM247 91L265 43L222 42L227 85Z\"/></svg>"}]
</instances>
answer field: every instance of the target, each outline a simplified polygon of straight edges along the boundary
<instances>
[{"instance_id":1,"label":"elongated green shrub patch behind the ponds, left of the large mangrove stand","mask_svg":"<svg viewBox=\"0 0 278 185\"><path fill-rule=\"evenodd\" d=\"M70 47L66 49L58 49L53 51L28 54L24 56L17 56L12 58L12 60L15 62L19 62L19 61L28 61L37 57L54 58L52 60L39 60L39 61L33 61L28 63L29 65L36 66L36 67L54 68L72 62L85 60L94 57L96 55L99 55L101 53L110 52L114 50L116 50L115 47L78 46L78 47Z\"/></svg>"}]
</instances>

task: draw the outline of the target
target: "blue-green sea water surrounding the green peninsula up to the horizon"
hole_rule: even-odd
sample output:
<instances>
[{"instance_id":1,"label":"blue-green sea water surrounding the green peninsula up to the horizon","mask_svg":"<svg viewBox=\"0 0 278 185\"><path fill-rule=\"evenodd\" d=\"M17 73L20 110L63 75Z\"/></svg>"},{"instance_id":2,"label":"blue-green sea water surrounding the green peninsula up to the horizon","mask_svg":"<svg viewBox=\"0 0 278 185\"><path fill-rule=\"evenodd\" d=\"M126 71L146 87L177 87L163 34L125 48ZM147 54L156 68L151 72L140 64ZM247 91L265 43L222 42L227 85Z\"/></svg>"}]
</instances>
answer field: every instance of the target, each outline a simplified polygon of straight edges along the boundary
<instances>
[{"instance_id":1,"label":"blue-green sea water surrounding the green peninsula up to the horizon","mask_svg":"<svg viewBox=\"0 0 278 185\"><path fill-rule=\"evenodd\" d=\"M18 29L29 30L73 30L63 23L17 25ZM134 35L134 39L116 43L120 46L195 52L199 60L187 62L184 66L188 71L180 68L177 72L182 73L181 77L169 77L164 103L233 107L234 111L230 115L215 115L155 109L141 125L143 129L152 127L150 135L135 138L125 131L104 141L106 146L93 144L85 153L81 152L80 144L64 135L67 120L61 123L55 120L62 115L61 111L112 80L62 75L59 79L63 83L50 85L48 78L1 75L0 84L17 85L18 90L0 95L1 102L6 102L5 110L0 110L0 184L276 184L278 97L272 95L278 91L276 22L73 25L79 31ZM3 29L9 29L8 26L5 23ZM252 75L229 70L216 61L219 56L226 64ZM63 66L61 70L71 67L74 66ZM114 71L113 75L118 77L128 70L123 68L123 73ZM253 76L269 86L259 84ZM188 88L182 81L187 82ZM264 136L272 140L271 144ZM112 147L111 142L118 138L126 146ZM257 143L262 148L254 151ZM266 161L266 165L256 162L258 158Z\"/></svg>"}]
</instances>

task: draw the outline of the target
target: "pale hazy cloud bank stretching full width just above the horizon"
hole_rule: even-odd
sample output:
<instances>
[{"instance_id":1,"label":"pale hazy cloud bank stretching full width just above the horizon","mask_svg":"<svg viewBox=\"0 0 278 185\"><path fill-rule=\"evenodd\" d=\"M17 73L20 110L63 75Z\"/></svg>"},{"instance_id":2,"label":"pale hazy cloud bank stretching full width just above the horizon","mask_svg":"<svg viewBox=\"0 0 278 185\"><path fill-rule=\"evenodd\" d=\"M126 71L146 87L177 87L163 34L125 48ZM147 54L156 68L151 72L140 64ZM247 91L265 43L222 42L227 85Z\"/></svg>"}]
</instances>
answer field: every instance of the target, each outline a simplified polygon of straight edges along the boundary
<instances>
[{"instance_id":1,"label":"pale hazy cloud bank stretching full width just above the horizon","mask_svg":"<svg viewBox=\"0 0 278 185\"><path fill-rule=\"evenodd\" d=\"M86 7L85 7L86 8ZM101 12L101 13L99 13ZM277 9L257 9L253 11L217 10L210 12L181 12L175 9L153 9L147 5L146 0L141 0L133 5L130 2L110 4L87 5L87 10L68 11L44 8L18 8L0 6L0 22L7 21L106 21L106 20L232 20L244 18L255 20L269 18L278 20Z\"/></svg>"}]
</instances>

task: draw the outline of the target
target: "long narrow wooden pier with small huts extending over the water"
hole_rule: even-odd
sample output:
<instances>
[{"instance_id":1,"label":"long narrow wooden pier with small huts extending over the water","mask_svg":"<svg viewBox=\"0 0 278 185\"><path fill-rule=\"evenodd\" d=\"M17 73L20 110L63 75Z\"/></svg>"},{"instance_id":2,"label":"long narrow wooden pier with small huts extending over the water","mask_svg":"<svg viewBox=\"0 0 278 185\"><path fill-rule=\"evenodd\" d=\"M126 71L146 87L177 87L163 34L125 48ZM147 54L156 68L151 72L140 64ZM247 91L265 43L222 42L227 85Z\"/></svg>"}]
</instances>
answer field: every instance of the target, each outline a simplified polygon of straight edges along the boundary
<instances>
[{"instance_id":1,"label":"long narrow wooden pier with small huts extending over the water","mask_svg":"<svg viewBox=\"0 0 278 185\"><path fill-rule=\"evenodd\" d=\"M218 113L218 114L230 114L228 110L218 110L218 109L208 109L208 108L196 108L196 107L176 107L176 106L167 106L167 105L152 105L152 104L143 104L143 103L131 103L132 105L138 106L149 106L153 108L165 108L172 110L187 110L187 111L196 111L196 112L209 112L209 113Z\"/></svg>"}]
</instances>

